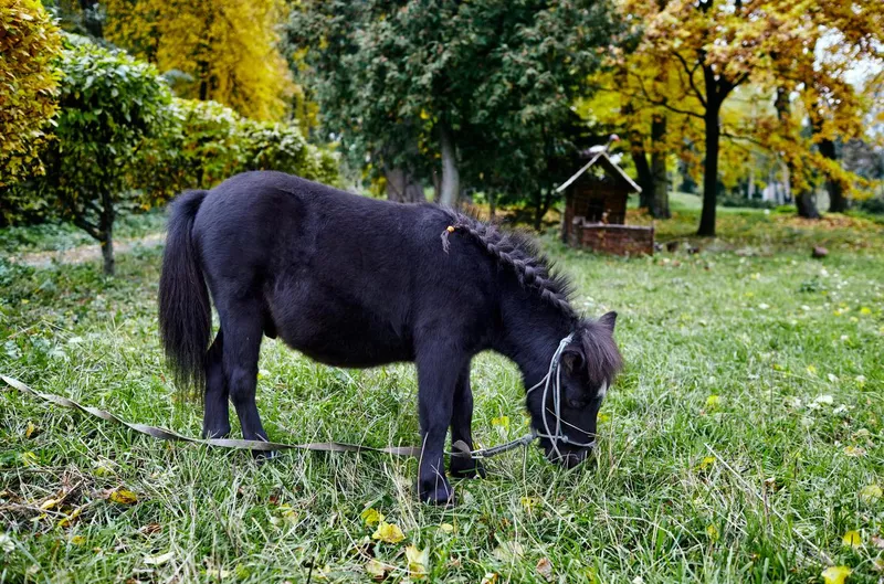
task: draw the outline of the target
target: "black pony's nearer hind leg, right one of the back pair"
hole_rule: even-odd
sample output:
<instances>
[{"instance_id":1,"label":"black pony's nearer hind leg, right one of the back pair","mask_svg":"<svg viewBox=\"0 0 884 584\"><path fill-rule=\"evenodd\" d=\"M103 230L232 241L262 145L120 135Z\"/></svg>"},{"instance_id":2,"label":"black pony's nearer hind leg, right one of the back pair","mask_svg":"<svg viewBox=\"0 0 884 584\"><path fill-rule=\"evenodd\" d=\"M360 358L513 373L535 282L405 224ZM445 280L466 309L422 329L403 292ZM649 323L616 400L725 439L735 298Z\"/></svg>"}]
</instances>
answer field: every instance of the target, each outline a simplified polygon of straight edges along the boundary
<instances>
[{"instance_id":1,"label":"black pony's nearer hind leg, right one of the back pair","mask_svg":"<svg viewBox=\"0 0 884 584\"><path fill-rule=\"evenodd\" d=\"M255 405L257 358L263 333L261 305L256 299L223 305L219 306L218 312L224 330L223 367L230 401L236 408L243 438L266 442L267 434Z\"/></svg>"}]
</instances>

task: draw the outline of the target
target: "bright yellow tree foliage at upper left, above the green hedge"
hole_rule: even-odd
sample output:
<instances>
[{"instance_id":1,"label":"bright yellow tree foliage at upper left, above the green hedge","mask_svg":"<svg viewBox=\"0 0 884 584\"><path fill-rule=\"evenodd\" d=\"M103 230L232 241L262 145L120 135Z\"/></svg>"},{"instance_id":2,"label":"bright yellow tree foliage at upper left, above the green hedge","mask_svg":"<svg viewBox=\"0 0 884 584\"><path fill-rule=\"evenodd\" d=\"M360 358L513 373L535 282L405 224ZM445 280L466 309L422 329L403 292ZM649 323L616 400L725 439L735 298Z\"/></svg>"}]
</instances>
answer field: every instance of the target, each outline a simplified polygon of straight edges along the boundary
<instances>
[{"instance_id":1,"label":"bright yellow tree foliage at upper left, above the green hedge","mask_svg":"<svg viewBox=\"0 0 884 584\"><path fill-rule=\"evenodd\" d=\"M182 97L213 99L240 114L280 119L296 87L276 49L282 0L108 0L112 42L191 81Z\"/></svg>"}]
</instances>

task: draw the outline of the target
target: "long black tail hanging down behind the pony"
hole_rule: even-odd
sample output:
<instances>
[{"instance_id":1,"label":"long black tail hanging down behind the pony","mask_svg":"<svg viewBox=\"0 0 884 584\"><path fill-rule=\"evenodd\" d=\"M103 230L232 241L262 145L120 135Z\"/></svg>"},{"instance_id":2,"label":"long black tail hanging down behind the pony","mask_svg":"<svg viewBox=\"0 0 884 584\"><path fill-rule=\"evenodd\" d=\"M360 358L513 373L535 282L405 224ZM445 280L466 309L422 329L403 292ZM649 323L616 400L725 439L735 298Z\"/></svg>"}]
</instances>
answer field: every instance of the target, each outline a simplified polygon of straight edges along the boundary
<instances>
[{"instance_id":1,"label":"long black tail hanging down behind the pony","mask_svg":"<svg viewBox=\"0 0 884 584\"><path fill-rule=\"evenodd\" d=\"M159 331L166 360L183 397L202 400L212 306L190 236L207 191L187 191L172 203L162 274L159 277Z\"/></svg>"}]
</instances>

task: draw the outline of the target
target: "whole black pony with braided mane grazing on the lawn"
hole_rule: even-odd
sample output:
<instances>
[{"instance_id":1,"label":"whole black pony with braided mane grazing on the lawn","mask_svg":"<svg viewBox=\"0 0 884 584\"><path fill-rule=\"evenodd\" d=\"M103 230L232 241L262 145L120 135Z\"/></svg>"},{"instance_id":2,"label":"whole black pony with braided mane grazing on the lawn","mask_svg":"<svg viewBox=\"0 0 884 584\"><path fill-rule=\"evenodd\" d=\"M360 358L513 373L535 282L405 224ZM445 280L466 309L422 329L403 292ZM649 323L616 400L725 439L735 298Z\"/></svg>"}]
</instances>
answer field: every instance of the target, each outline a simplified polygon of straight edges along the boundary
<instances>
[{"instance_id":1,"label":"whole black pony with braided mane grazing on the lawn","mask_svg":"<svg viewBox=\"0 0 884 584\"><path fill-rule=\"evenodd\" d=\"M208 437L230 433L230 400L243 436L267 439L255 406L264 335L336 367L413 361L418 491L446 503L445 435L473 447L470 361L486 349L538 387L527 406L548 457L571 467L592 447L621 365L617 315L581 319L567 288L528 241L453 211L246 172L176 200L159 327L179 386L204 389ZM210 293L221 322L211 346ZM451 457L450 470L484 475L467 457Z\"/></svg>"}]
</instances>

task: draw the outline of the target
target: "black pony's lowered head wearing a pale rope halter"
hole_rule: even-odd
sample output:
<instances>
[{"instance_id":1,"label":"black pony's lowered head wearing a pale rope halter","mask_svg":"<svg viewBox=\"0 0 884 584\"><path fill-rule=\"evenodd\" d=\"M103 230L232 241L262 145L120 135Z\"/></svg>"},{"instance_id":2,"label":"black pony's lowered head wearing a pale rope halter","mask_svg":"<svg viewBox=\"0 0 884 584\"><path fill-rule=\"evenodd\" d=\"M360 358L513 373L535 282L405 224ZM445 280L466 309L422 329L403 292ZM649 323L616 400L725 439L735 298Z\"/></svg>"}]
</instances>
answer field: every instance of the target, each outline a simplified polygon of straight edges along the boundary
<instances>
[{"instance_id":1,"label":"black pony's lowered head wearing a pale rope halter","mask_svg":"<svg viewBox=\"0 0 884 584\"><path fill-rule=\"evenodd\" d=\"M622 367L614 342L617 312L580 320L552 358L547 376L528 390L532 425L547 458L568 468L583 461L596 440L596 420Z\"/></svg>"}]
</instances>

